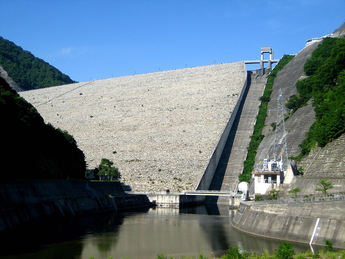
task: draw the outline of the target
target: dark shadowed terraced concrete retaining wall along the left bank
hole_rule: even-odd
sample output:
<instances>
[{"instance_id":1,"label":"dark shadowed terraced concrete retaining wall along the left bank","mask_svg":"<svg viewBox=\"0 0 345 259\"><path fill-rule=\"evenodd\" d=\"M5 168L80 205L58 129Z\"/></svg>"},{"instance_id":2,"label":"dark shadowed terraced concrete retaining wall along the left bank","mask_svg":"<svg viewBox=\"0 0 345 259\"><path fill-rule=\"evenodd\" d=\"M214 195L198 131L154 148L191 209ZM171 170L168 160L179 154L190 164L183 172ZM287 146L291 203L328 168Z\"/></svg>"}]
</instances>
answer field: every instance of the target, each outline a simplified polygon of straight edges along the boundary
<instances>
[{"instance_id":1,"label":"dark shadowed terraced concrete retaining wall along the left bank","mask_svg":"<svg viewBox=\"0 0 345 259\"><path fill-rule=\"evenodd\" d=\"M146 195L126 195L119 182L2 182L0 233L48 219L148 205Z\"/></svg>"}]
</instances>

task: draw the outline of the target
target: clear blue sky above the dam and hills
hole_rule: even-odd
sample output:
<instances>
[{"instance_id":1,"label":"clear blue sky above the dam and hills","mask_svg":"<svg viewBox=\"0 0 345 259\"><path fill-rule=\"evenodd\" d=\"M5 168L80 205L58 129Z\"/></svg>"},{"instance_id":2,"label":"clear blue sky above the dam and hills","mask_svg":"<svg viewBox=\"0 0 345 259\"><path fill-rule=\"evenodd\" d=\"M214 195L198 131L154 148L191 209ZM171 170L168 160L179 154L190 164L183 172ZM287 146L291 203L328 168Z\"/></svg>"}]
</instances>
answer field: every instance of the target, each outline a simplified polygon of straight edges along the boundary
<instances>
[{"instance_id":1,"label":"clear blue sky above the dam and hills","mask_svg":"<svg viewBox=\"0 0 345 259\"><path fill-rule=\"evenodd\" d=\"M345 21L345 0L3 0L0 36L76 81L295 54Z\"/></svg>"}]
</instances>

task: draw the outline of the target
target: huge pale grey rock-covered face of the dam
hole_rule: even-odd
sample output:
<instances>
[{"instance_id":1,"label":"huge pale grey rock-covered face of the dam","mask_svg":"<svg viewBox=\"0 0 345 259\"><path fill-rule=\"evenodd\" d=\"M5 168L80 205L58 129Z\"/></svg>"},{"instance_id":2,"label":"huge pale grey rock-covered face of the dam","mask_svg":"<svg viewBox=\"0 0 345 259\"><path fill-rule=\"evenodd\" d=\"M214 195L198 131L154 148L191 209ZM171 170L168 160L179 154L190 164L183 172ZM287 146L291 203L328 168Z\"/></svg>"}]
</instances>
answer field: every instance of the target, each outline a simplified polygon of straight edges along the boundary
<instances>
[{"instance_id":1,"label":"huge pale grey rock-covered face of the dam","mask_svg":"<svg viewBox=\"0 0 345 259\"><path fill-rule=\"evenodd\" d=\"M195 189L246 81L242 62L20 92L133 191ZM49 145L49 143L48 143Z\"/></svg>"}]
</instances>

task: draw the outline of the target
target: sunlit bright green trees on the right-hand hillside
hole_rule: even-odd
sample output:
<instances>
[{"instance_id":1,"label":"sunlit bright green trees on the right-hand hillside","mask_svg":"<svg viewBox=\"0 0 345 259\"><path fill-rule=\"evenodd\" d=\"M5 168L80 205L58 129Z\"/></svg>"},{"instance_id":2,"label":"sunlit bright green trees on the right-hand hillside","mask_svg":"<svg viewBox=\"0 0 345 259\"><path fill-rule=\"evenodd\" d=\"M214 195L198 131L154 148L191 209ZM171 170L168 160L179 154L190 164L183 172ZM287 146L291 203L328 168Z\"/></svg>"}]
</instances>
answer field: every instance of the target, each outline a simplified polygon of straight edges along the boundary
<instances>
[{"instance_id":1,"label":"sunlit bright green trees on the right-hand hillside","mask_svg":"<svg viewBox=\"0 0 345 259\"><path fill-rule=\"evenodd\" d=\"M345 132L345 38L326 38L304 65L308 76L296 83L298 95L290 96L286 107L296 111L312 99L316 121L300 145L307 155L311 148L327 143Z\"/></svg>"}]
</instances>

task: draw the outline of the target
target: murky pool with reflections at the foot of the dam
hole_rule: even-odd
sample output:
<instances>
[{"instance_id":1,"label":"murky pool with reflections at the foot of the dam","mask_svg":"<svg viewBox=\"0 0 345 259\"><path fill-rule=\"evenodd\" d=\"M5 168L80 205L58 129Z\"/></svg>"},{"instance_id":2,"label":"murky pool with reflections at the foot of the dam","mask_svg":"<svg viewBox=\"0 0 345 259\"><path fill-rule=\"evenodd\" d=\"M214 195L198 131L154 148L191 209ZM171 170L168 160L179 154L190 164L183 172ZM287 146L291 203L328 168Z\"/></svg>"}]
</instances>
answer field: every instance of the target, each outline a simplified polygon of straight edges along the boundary
<instances>
[{"instance_id":1,"label":"murky pool with reflections at the foot of the dam","mask_svg":"<svg viewBox=\"0 0 345 259\"><path fill-rule=\"evenodd\" d=\"M229 246L246 252L273 251L279 240L260 238L231 227L228 206L152 208L148 211L97 214L50 221L6 237L0 258L168 258L223 255ZM1 237L1 240L4 240ZM295 252L306 244L293 244Z\"/></svg>"}]
</instances>

